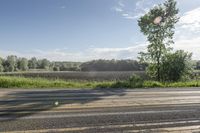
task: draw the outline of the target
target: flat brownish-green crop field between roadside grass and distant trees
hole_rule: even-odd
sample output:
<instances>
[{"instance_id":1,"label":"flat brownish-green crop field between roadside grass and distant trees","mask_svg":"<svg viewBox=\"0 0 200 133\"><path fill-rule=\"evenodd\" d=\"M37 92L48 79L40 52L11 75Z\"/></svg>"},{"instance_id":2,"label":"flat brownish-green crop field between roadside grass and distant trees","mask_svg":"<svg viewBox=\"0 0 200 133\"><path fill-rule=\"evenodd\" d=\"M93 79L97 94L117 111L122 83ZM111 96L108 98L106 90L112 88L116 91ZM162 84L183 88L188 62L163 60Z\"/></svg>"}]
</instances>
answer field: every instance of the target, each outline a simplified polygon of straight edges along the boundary
<instances>
[{"instance_id":1,"label":"flat brownish-green crop field between roadside grass and distant trees","mask_svg":"<svg viewBox=\"0 0 200 133\"><path fill-rule=\"evenodd\" d=\"M23 77L41 77L47 79L64 80L91 80L91 81L111 81L126 80L133 74L145 77L143 71L103 71L103 72L13 72L1 73L2 76L23 76Z\"/></svg>"}]
</instances>

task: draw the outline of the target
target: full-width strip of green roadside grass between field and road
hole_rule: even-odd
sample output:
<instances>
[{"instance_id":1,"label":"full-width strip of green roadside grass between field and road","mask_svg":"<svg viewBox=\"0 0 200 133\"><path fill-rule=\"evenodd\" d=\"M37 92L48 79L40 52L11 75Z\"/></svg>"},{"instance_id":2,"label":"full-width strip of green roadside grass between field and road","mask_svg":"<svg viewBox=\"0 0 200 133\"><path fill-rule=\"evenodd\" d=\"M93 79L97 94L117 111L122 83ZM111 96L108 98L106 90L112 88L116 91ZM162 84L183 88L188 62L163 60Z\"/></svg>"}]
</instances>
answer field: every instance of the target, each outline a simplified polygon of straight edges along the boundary
<instances>
[{"instance_id":1,"label":"full-width strip of green roadside grass between field and road","mask_svg":"<svg viewBox=\"0 0 200 133\"><path fill-rule=\"evenodd\" d=\"M25 78L0 76L0 88L164 88L164 87L200 87L199 81L157 82L143 81L132 77L124 81L78 81L51 80L44 78Z\"/></svg>"}]
</instances>

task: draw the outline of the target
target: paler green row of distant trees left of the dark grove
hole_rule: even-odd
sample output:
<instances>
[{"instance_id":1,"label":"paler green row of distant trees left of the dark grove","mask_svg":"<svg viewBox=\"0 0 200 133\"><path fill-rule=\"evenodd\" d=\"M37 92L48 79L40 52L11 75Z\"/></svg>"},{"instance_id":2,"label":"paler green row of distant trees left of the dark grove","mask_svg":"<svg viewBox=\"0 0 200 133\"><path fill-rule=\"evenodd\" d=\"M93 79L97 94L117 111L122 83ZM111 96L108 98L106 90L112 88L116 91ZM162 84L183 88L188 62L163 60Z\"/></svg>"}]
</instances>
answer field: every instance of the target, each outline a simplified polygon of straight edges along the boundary
<instances>
[{"instance_id":1,"label":"paler green row of distant trees left of the dark grove","mask_svg":"<svg viewBox=\"0 0 200 133\"><path fill-rule=\"evenodd\" d=\"M47 59L31 59L17 57L15 55L0 58L0 72L16 71L78 71L80 62L51 62Z\"/></svg>"}]
</instances>

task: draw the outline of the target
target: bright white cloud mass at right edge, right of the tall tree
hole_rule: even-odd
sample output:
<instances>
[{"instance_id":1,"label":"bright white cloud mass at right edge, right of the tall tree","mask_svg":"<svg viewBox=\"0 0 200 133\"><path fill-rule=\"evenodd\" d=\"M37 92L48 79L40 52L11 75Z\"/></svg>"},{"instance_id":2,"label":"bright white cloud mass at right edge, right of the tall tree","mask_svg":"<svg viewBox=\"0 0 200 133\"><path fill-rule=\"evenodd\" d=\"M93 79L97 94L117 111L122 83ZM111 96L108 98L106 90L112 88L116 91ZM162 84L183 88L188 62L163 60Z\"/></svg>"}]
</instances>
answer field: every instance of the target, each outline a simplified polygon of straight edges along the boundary
<instances>
[{"instance_id":1,"label":"bright white cloud mass at right edge, right of the tall tree","mask_svg":"<svg viewBox=\"0 0 200 133\"><path fill-rule=\"evenodd\" d=\"M193 53L193 59L200 59L200 7L185 12L177 24L174 49Z\"/></svg>"}]
</instances>

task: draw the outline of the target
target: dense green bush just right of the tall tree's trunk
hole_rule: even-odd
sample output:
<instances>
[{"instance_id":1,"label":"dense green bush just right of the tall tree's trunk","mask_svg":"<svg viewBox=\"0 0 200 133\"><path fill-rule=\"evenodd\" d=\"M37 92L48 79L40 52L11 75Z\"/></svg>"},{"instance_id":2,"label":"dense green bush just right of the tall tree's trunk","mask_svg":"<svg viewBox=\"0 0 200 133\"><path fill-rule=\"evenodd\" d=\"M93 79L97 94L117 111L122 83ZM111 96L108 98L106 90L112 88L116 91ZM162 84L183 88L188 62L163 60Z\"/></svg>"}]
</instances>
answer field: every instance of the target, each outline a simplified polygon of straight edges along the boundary
<instances>
[{"instance_id":1,"label":"dense green bush just right of the tall tree's trunk","mask_svg":"<svg viewBox=\"0 0 200 133\"><path fill-rule=\"evenodd\" d=\"M183 50L167 54L161 65L162 81L188 80L192 73L191 57L191 53Z\"/></svg>"}]
</instances>

